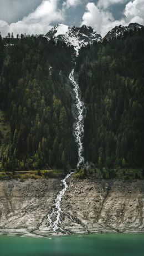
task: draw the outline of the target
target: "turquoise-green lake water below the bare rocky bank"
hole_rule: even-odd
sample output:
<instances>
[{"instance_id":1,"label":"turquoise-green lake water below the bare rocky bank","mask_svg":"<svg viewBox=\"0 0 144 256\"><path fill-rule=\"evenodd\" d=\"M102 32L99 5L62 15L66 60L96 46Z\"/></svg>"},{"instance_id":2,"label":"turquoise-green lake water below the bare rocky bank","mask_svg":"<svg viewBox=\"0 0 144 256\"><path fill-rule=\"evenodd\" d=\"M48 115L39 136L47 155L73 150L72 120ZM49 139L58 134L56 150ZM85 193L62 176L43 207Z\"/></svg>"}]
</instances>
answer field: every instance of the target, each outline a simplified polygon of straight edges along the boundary
<instances>
[{"instance_id":1,"label":"turquoise-green lake water below the bare rocky bank","mask_svg":"<svg viewBox=\"0 0 144 256\"><path fill-rule=\"evenodd\" d=\"M1 256L143 256L144 234L24 238L0 235Z\"/></svg>"}]
</instances>

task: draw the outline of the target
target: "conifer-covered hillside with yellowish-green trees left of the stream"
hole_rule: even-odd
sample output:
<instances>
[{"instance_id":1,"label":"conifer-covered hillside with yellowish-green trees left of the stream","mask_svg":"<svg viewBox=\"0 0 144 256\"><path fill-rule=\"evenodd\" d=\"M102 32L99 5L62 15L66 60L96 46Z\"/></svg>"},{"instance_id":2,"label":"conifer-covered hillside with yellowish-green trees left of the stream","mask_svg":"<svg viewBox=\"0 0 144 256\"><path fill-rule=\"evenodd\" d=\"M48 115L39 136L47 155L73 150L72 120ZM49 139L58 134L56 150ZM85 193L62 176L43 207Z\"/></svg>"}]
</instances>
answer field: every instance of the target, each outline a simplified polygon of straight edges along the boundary
<instances>
[{"instance_id":1,"label":"conifer-covered hillside with yellowish-green trees left of the stream","mask_svg":"<svg viewBox=\"0 0 144 256\"><path fill-rule=\"evenodd\" d=\"M11 126L10 141L0 141L2 167L75 167L68 83L73 47L21 35L0 38L0 50L0 109Z\"/></svg>"}]
</instances>

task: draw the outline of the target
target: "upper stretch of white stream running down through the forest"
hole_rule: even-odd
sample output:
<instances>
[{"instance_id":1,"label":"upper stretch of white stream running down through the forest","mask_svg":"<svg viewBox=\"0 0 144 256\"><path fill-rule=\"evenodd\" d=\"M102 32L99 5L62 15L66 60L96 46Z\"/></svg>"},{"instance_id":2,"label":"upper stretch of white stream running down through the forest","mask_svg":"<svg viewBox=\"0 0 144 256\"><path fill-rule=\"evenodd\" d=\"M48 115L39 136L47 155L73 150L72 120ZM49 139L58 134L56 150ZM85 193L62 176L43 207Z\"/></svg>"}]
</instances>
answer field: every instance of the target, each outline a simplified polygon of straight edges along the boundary
<instances>
[{"instance_id":1,"label":"upper stretch of white stream running down through the forest","mask_svg":"<svg viewBox=\"0 0 144 256\"><path fill-rule=\"evenodd\" d=\"M77 167L84 164L84 148L83 148L83 135L84 135L84 103L80 99L80 89L79 85L74 80L74 69L71 71L69 75L69 80L73 84L73 91L75 93L76 98L76 123L74 127L74 136L75 140L78 143L78 164Z\"/></svg>"}]
</instances>

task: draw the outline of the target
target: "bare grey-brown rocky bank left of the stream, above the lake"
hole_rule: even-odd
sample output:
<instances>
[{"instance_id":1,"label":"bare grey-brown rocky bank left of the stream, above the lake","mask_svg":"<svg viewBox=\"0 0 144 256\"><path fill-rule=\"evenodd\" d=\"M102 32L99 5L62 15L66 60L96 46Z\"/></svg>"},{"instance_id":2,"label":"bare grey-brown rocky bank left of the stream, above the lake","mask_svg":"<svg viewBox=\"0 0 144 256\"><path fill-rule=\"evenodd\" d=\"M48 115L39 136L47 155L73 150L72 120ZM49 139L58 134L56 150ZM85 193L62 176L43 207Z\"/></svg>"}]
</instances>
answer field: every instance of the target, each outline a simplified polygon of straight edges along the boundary
<instances>
[{"instance_id":1,"label":"bare grey-brown rocky bank left of the stream, above the lake","mask_svg":"<svg viewBox=\"0 0 144 256\"><path fill-rule=\"evenodd\" d=\"M48 227L47 214L60 190L59 179L0 182L0 232L33 235Z\"/></svg>"}]
</instances>

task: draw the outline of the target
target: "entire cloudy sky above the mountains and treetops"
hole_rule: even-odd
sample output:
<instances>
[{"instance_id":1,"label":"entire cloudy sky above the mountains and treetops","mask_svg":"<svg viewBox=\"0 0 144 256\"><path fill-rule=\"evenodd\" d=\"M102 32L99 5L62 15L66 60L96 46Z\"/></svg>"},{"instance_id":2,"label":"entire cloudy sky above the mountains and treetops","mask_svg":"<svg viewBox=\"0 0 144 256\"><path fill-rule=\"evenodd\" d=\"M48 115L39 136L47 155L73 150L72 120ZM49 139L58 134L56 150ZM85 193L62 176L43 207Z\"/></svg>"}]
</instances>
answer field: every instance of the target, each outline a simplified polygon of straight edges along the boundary
<instances>
[{"instance_id":1,"label":"entire cloudy sky above the mountains and treetops","mask_svg":"<svg viewBox=\"0 0 144 256\"><path fill-rule=\"evenodd\" d=\"M0 0L0 32L46 34L55 24L91 26L105 36L115 26L144 25L144 0Z\"/></svg>"}]
</instances>

